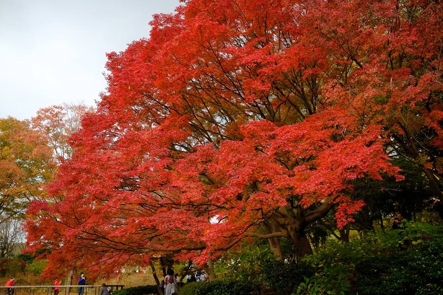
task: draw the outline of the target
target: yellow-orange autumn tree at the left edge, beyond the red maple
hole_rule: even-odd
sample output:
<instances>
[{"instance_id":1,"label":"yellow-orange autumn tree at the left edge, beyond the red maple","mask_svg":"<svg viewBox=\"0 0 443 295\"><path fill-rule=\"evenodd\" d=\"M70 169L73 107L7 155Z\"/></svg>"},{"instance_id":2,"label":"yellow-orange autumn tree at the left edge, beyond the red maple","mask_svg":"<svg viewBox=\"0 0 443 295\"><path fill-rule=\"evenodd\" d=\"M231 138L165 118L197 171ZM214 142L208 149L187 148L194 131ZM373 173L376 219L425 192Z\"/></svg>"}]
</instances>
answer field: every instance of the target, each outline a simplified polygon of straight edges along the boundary
<instances>
[{"instance_id":1,"label":"yellow-orange autumn tree at the left edge, beyond the red maple","mask_svg":"<svg viewBox=\"0 0 443 295\"><path fill-rule=\"evenodd\" d=\"M27 121L0 119L0 212L7 216L25 213L29 201L42 200L55 167L47 142Z\"/></svg>"}]
</instances>

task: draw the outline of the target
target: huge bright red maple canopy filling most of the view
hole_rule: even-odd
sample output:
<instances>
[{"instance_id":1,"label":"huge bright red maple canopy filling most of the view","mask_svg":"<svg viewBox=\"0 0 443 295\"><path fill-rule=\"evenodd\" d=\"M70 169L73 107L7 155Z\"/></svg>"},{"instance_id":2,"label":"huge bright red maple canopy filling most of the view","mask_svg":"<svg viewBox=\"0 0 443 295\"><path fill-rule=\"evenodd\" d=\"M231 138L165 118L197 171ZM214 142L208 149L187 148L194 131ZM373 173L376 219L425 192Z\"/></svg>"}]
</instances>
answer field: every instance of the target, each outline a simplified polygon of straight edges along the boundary
<instances>
[{"instance_id":1,"label":"huge bright red maple canopy filling most of the view","mask_svg":"<svg viewBox=\"0 0 443 295\"><path fill-rule=\"evenodd\" d=\"M440 89L439 15L428 1L339 0L190 0L156 15L149 39L108 55L107 92L50 186L63 201L30 207L28 245L61 270L153 251L202 263L246 236L310 253L309 223L338 206L343 226L363 206L355 179L401 178L382 149L387 114Z\"/></svg>"}]
</instances>

